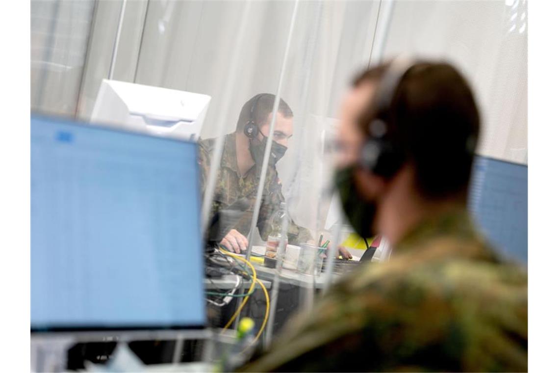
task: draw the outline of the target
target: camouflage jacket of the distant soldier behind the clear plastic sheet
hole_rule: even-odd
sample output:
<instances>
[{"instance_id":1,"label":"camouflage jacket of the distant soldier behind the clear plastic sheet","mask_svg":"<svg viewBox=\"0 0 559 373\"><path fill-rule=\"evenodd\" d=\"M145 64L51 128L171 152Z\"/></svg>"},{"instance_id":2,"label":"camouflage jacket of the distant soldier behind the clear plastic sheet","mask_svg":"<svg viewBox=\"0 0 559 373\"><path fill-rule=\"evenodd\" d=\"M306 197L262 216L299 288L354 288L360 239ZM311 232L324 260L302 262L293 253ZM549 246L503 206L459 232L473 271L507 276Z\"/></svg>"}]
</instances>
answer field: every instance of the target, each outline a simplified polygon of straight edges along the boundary
<instances>
[{"instance_id":1,"label":"camouflage jacket of the distant soldier behind the clear plastic sheet","mask_svg":"<svg viewBox=\"0 0 559 373\"><path fill-rule=\"evenodd\" d=\"M202 191L206 188L206 178L208 177L211 154L214 152L214 147L215 139L200 141L200 157L198 162L202 169ZM241 176L237 166L235 133L226 135L210 216L215 215L218 211L227 210L229 206L241 199L248 201L248 206L239 211L239 214L235 214L233 219L222 223L222 225L226 225L226 228L221 230L229 232L231 229L236 229L239 233L248 237L259 177L260 167L257 165L250 168L245 176ZM260 205L257 221L260 237L264 241L268 239L268 235L271 232L273 214L280 206L280 203L284 201L285 198L281 192L281 182L278 178L276 167L268 166L266 183L264 184L264 192L262 194L262 204ZM309 230L296 225L291 219L287 235L289 243L292 244L307 242L307 240L312 239Z\"/></svg>"}]
</instances>

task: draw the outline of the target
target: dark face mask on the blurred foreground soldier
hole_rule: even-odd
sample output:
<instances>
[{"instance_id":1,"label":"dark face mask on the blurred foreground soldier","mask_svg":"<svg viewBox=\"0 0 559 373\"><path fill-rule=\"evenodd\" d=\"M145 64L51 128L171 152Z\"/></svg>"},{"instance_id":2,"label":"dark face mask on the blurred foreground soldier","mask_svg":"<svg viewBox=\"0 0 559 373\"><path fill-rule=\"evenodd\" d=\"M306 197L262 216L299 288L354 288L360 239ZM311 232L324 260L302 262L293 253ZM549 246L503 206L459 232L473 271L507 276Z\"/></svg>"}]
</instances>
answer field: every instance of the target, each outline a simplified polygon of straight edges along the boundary
<instances>
[{"instance_id":1,"label":"dark face mask on the blurred foreground soldier","mask_svg":"<svg viewBox=\"0 0 559 373\"><path fill-rule=\"evenodd\" d=\"M365 200L359 194L355 182L355 172L358 166L348 166L338 169L335 173L335 185L340 193L342 209L349 223L357 234L363 238L373 237L373 221L377 212L375 202Z\"/></svg>"}]
</instances>

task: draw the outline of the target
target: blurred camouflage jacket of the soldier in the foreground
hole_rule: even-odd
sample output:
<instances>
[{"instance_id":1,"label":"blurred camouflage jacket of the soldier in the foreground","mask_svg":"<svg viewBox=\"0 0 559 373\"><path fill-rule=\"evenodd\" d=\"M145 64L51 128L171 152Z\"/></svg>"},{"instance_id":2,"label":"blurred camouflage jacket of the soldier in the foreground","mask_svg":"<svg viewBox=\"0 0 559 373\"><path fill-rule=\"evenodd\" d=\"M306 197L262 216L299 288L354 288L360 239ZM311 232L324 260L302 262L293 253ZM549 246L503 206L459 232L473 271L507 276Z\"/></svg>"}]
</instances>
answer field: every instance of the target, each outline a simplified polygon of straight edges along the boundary
<instances>
[{"instance_id":1,"label":"blurred camouflage jacket of the soldier in the foreground","mask_svg":"<svg viewBox=\"0 0 559 373\"><path fill-rule=\"evenodd\" d=\"M465 211L356 268L243 371L527 371L527 273Z\"/></svg>"}]
</instances>

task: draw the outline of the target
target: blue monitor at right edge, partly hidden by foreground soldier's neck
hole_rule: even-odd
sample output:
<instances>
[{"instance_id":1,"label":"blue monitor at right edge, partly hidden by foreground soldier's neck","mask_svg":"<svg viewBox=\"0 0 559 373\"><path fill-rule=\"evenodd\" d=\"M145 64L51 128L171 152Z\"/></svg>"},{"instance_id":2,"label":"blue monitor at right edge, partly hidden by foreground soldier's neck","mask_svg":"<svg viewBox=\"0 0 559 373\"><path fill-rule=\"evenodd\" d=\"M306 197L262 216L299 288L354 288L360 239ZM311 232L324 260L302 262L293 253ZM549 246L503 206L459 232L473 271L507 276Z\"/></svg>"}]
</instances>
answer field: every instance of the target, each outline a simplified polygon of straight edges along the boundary
<instances>
[{"instance_id":1,"label":"blue monitor at right edge, partly hidden by foreground soldier's neck","mask_svg":"<svg viewBox=\"0 0 559 373\"><path fill-rule=\"evenodd\" d=\"M528 166L476 157L468 207L490 243L528 263Z\"/></svg>"}]
</instances>

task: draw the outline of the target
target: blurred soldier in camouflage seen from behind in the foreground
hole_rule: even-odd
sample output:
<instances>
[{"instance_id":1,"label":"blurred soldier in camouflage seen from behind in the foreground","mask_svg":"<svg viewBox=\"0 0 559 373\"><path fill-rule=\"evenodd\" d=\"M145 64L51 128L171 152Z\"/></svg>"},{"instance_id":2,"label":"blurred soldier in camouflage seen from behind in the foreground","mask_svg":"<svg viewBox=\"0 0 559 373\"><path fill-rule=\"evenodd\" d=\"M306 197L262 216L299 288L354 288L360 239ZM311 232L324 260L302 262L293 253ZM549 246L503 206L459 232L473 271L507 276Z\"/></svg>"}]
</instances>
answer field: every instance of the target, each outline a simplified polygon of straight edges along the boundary
<instances>
[{"instance_id":1,"label":"blurred soldier in camouflage seen from behind in the foreground","mask_svg":"<svg viewBox=\"0 0 559 373\"><path fill-rule=\"evenodd\" d=\"M345 98L338 166L353 165L349 183L338 179L349 221L388 238L390 260L342 278L241 371L527 371L527 273L496 254L466 211L473 95L451 65L396 62L362 74ZM390 95L384 109L381 95ZM372 130L375 119L385 131ZM402 157L364 163L371 139Z\"/></svg>"}]
</instances>

